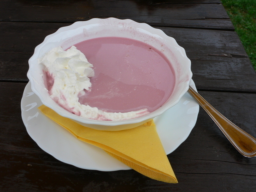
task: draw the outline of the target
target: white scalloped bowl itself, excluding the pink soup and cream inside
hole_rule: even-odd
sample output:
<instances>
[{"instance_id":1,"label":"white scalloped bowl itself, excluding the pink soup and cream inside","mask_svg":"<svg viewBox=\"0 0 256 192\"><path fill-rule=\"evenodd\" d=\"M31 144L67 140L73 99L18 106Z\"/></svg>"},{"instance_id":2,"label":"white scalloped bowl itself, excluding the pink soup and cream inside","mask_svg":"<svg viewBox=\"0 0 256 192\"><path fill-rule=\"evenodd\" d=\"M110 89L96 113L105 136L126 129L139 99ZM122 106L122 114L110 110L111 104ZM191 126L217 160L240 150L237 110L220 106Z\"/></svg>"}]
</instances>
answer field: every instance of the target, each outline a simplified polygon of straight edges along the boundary
<instances>
[{"instance_id":1,"label":"white scalloped bowl itself, excluding the pink soup and cream inside","mask_svg":"<svg viewBox=\"0 0 256 192\"><path fill-rule=\"evenodd\" d=\"M164 55L172 63L175 73L174 90L168 100L157 110L134 119L121 121L92 120L72 114L55 103L45 88L42 73L43 66L37 59L54 47L61 46L66 50L71 45L81 41L97 37L126 37L147 43L158 50L164 50ZM52 108L63 117L67 117L83 126L98 130L118 131L131 129L143 124L154 117L161 115L179 102L187 92L189 81L192 78L190 70L191 62L186 56L184 48L180 47L174 38L167 36L160 29L155 29L145 23L137 23L130 19L120 20L116 18L78 21L67 27L61 27L54 34L46 36L43 43L35 48L33 56L29 59L27 77L31 82L31 88L41 99L45 106Z\"/></svg>"}]
</instances>

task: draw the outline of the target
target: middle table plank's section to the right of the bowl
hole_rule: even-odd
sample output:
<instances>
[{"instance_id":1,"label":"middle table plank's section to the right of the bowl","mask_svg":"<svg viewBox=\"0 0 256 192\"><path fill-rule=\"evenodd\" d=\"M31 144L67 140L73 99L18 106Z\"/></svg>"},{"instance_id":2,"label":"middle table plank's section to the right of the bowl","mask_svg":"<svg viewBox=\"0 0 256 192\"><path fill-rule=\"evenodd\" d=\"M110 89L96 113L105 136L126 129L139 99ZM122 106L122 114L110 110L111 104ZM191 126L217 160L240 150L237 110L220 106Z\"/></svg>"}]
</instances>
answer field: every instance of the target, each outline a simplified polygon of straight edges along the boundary
<instances>
[{"instance_id":1,"label":"middle table plank's section to the right of the bowl","mask_svg":"<svg viewBox=\"0 0 256 192\"><path fill-rule=\"evenodd\" d=\"M184 47L204 90L256 91L256 72L236 32L161 27Z\"/></svg>"}]
</instances>

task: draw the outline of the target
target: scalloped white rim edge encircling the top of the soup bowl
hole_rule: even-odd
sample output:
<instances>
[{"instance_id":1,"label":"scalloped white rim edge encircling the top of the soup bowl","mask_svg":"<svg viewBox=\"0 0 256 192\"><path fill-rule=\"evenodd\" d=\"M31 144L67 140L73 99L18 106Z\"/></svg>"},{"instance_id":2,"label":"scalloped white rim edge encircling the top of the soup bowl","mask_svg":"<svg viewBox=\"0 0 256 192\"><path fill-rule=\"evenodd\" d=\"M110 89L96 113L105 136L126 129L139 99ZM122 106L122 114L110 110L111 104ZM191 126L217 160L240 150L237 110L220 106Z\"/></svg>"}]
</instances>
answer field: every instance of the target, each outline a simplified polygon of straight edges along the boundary
<instances>
[{"instance_id":1,"label":"scalloped white rim edge encircling the top of the soup bowl","mask_svg":"<svg viewBox=\"0 0 256 192\"><path fill-rule=\"evenodd\" d=\"M127 120L118 120L118 121L105 121L105 120L93 120L93 119L89 119L89 118L85 118L85 117L80 117L78 115L72 114L69 111L66 111L65 109L61 108L57 103L55 103L55 106L52 106L51 104L49 104L47 101L45 101L45 99L43 98L43 96L40 94L40 91L37 90L36 88L36 84L34 82L34 78L32 77L32 65L34 65L32 63L32 59L35 59L35 57L39 54L40 48L49 43L49 39L56 36L57 34L60 34L62 32L67 32L70 31L72 29L76 29L78 27L83 27L86 25L90 25L90 24L95 24L95 23L100 23L100 22L122 22L122 23L127 23L128 25L131 24L135 24L136 27L140 27L141 29L144 29L146 31L150 31L150 33L152 34L156 34L158 36L160 36L161 38L165 38L168 39L168 41L171 41L173 43L173 45L175 47L178 47L180 49L181 54L183 55L184 59L187 61L186 65L187 65L187 76L188 78L185 80L184 82L184 87L182 88L182 90L180 91L179 97L176 99L175 102L172 103L172 105L168 105L168 106L163 106L161 108L161 110L159 111L153 111L152 113L148 113L146 115L140 116L140 117L136 117L136 118L132 118L132 119L127 119ZM36 58L37 59L37 58ZM161 114L163 114L165 111L167 111L170 107L174 106L175 104L177 104L179 102L179 100L181 99L181 97L187 92L188 88L189 88L189 82L190 79L192 78L192 71L191 71L191 61L190 59L188 59L186 52L184 50L183 47L179 46L177 41L166 35L161 29L156 29L146 23L138 23L134 20L131 19L118 19L118 18L92 18L90 20L86 20L86 21L77 21L71 25L65 26L65 27L60 27L56 32L54 32L53 34L50 34L48 36L45 37L44 41L42 43L40 43L39 45L37 45L35 47L34 50L34 54L31 56L31 58L29 59L29 70L27 72L27 77L31 83L31 88L33 90L34 93L36 93L36 95L38 95L38 97L40 98L41 102L45 105L48 106L49 108L51 108L52 110L54 110L56 113L58 113L59 115L63 116L63 117L67 117L71 120L75 120L77 122L81 122L84 124L95 124L95 125L104 125L104 126L118 126L118 125L123 125L123 124L136 124L136 123L140 123L143 122L145 120L150 120L153 119L156 116L159 116Z\"/></svg>"}]
</instances>

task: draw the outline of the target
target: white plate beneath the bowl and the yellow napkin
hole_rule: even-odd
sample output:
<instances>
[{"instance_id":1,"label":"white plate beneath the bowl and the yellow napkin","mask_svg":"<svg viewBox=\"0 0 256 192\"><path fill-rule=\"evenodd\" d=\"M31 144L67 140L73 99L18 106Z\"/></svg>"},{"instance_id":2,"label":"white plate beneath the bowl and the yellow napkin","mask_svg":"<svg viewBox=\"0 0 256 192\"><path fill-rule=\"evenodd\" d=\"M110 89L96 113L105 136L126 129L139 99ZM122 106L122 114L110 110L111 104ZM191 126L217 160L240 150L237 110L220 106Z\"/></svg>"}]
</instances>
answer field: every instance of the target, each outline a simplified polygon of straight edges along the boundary
<instances>
[{"instance_id":1,"label":"white plate beneath the bowl and the yellow napkin","mask_svg":"<svg viewBox=\"0 0 256 192\"><path fill-rule=\"evenodd\" d=\"M193 80L190 86L195 89ZM40 113L41 100L31 90L30 82L21 99L21 115L29 136L48 154L58 160L80 167L99 171L131 169L102 149L75 138L66 129ZM170 154L186 140L197 121L199 105L186 93L178 104L154 122L166 154Z\"/></svg>"}]
</instances>

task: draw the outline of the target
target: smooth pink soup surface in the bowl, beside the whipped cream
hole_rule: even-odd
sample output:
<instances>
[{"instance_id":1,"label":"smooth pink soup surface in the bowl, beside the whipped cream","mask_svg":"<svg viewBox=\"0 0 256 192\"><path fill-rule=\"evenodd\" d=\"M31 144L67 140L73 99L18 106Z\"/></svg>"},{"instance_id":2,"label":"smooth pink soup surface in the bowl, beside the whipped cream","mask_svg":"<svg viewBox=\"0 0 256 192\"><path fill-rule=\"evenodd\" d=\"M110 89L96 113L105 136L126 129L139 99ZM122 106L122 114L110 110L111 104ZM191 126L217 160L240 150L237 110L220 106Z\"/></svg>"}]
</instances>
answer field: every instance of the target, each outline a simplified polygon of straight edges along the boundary
<instances>
[{"instance_id":1,"label":"smooth pink soup surface in the bowl, beside the whipped cream","mask_svg":"<svg viewBox=\"0 0 256 192\"><path fill-rule=\"evenodd\" d=\"M129 38L102 37L75 44L93 64L92 86L79 102L107 112L147 108L152 112L171 95L174 73L162 52Z\"/></svg>"}]
</instances>

